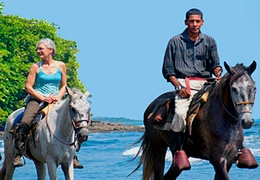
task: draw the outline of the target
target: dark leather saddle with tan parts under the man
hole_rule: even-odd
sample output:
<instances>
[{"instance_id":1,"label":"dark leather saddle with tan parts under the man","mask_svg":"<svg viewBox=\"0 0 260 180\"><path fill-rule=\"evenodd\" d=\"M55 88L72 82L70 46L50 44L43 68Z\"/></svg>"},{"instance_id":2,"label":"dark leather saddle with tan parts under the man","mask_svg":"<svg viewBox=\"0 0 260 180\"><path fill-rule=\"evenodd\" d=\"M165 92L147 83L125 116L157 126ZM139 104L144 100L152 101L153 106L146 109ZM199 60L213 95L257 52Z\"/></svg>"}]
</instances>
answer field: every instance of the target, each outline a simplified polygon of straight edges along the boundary
<instances>
[{"instance_id":1,"label":"dark leather saddle with tan parts under the man","mask_svg":"<svg viewBox=\"0 0 260 180\"><path fill-rule=\"evenodd\" d=\"M192 134L192 122L196 117L199 109L203 106L203 104L207 101L210 92L212 91L215 83L206 82L203 88L193 97L190 108L187 112L187 125L189 130L189 135ZM173 93L174 96L175 93ZM174 97L158 99L154 105L153 111L148 116L148 121L150 121L154 125L164 124L166 122L172 122L174 116ZM161 116L161 121L155 119L155 117Z\"/></svg>"}]
</instances>

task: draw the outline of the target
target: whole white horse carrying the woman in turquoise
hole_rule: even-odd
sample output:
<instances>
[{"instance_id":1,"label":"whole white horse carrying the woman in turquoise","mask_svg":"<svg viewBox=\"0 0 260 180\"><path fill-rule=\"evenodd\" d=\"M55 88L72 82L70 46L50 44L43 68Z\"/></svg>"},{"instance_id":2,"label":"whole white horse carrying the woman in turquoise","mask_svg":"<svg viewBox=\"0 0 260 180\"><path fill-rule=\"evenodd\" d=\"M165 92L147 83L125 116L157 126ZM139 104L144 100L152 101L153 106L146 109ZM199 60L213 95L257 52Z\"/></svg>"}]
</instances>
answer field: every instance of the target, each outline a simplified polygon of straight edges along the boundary
<instances>
[{"instance_id":1,"label":"whole white horse carrying the woman in turquoise","mask_svg":"<svg viewBox=\"0 0 260 180\"><path fill-rule=\"evenodd\" d=\"M74 179L73 157L77 142L86 141L90 123L89 92L83 94L77 89L67 88L68 96L51 108L38 122L38 126L28 140L26 157L33 160L39 180L46 179L46 164L51 180L57 179L57 167L61 165L66 180ZM15 153L13 134L9 131L15 118L24 108L13 112L6 120L4 133L5 160L0 170L0 179L13 177ZM29 151L28 151L29 150ZM29 153L32 156L29 156Z\"/></svg>"}]
</instances>

